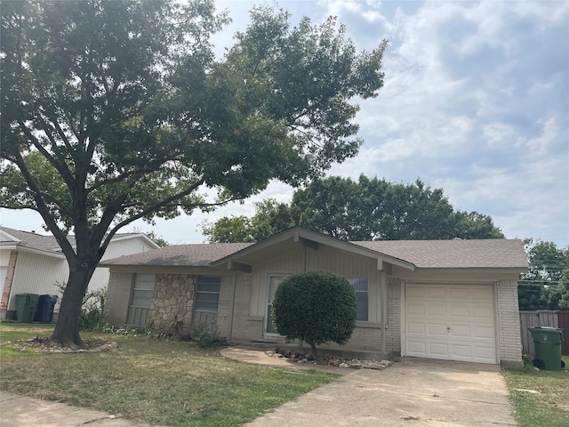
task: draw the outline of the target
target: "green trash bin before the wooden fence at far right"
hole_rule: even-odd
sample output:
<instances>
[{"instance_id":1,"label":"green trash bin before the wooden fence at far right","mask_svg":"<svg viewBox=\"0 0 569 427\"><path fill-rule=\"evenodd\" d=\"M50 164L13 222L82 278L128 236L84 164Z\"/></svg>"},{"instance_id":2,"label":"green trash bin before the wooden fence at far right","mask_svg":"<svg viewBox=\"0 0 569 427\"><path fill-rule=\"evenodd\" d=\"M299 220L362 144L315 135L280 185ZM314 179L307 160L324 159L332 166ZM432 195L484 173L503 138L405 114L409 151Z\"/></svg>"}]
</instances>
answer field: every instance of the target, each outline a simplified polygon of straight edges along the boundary
<instances>
[{"instance_id":1,"label":"green trash bin before the wooden fence at far right","mask_svg":"<svg viewBox=\"0 0 569 427\"><path fill-rule=\"evenodd\" d=\"M563 331L549 326L530 327L529 330L535 346L533 366L547 371L560 371L562 367L565 367L561 359Z\"/></svg>"}]
</instances>

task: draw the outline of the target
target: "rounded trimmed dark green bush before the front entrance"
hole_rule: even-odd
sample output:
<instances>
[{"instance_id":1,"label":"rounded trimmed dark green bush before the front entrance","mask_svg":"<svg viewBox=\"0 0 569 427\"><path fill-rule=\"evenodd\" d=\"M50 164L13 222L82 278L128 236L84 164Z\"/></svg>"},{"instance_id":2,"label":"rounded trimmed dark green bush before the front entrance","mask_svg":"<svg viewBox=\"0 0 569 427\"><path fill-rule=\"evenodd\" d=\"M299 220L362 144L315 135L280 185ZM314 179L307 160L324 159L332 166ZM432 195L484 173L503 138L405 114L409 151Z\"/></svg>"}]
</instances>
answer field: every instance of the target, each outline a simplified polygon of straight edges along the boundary
<instances>
[{"instance_id":1,"label":"rounded trimmed dark green bush before the front entrance","mask_svg":"<svg viewBox=\"0 0 569 427\"><path fill-rule=\"evenodd\" d=\"M279 334L308 342L316 353L317 344L348 342L356 326L356 291L327 271L295 274L276 288L271 314Z\"/></svg>"}]
</instances>

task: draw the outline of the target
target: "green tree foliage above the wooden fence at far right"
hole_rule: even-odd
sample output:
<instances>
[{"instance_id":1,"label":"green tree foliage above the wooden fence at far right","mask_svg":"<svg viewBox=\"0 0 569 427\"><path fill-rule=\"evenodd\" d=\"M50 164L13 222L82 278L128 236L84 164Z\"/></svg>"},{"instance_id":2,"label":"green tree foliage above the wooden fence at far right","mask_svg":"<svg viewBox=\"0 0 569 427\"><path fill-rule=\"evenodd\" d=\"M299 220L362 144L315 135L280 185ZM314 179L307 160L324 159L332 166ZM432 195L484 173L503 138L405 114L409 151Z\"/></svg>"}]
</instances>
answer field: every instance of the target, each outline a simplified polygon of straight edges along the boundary
<instances>
[{"instance_id":1,"label":"green tree foliage above the wooden fence at far right","mask_svg":"<svg viewBox=\"0 0 569 427\"><path fill-rule=\"evenodd\" d=\"M569 310L569 246L525 240L526 273L517 286L519 310Z\"/></svg>"}]
</instances>

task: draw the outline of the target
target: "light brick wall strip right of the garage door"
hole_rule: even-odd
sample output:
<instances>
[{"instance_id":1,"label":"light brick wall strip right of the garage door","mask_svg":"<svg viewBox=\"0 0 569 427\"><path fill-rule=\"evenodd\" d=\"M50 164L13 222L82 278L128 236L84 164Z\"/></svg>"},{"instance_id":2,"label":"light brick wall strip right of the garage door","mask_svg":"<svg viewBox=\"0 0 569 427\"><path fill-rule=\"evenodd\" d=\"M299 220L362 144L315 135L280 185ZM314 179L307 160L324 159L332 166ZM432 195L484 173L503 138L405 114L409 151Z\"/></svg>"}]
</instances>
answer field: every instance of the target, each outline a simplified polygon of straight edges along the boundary
<instances>
[{"instance_id":1,"label":"light brick wall strip right of the garage door","mask_svg":"<svg viewBox=\"0 0 569 427\"><path fill-rule=\"evenodd\" d=\"M500 280L498 294L498 334L501 365L522 367L517 280Z\"/></svg>"}]
</instances>

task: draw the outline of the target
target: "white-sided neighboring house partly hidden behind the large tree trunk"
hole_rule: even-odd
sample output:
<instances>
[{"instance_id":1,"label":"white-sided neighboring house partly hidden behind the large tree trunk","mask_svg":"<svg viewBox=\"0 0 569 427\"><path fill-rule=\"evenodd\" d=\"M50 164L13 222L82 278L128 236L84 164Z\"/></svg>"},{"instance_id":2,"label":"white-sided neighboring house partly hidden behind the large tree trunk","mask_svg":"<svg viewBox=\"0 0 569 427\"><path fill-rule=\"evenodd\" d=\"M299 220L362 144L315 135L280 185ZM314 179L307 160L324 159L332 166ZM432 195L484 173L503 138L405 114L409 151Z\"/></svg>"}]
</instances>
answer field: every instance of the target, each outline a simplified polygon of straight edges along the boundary
<instances>
[{"instance_id":1,"label":"white-sided neighboring house partly hidden behind the large tree trunk","mask_svg":"<svg viewBox=\"0 0 569 427\"><path fill-rule=\"evenodd\" d=\"M68 236L71 245L75 238ZM144 234L117 234L103 260L159 247ZM59 294L57 284L68 279L68 263L52 236L0 227L0 318L12 318L16 294ZM89 291L108 285L108 269L97 268Z\"/></svg>"}]
</instances>

